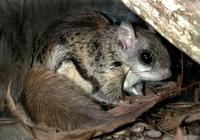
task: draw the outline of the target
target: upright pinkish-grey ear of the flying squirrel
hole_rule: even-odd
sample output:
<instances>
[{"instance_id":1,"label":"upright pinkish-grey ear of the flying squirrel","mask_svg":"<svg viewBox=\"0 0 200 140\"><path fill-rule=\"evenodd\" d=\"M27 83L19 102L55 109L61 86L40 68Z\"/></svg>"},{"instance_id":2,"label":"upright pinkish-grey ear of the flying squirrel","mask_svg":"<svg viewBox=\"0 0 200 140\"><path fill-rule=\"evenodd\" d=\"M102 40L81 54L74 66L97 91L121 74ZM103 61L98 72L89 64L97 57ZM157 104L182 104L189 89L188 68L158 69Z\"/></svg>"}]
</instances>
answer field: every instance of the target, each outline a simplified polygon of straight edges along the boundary
<instances>
[{"instance_id":1,"label":"upright pinkish-grey ear of the flying squirrel","mask_svg":"<svg viewBox=\"0 0 200 140\"><path fill-rule=\"evenodd\" d=\"M125 22L122 22L119 26L118 37L123 44L123 49L134 47L137 41L133 27Z\"/></svg>"}]
</instances>

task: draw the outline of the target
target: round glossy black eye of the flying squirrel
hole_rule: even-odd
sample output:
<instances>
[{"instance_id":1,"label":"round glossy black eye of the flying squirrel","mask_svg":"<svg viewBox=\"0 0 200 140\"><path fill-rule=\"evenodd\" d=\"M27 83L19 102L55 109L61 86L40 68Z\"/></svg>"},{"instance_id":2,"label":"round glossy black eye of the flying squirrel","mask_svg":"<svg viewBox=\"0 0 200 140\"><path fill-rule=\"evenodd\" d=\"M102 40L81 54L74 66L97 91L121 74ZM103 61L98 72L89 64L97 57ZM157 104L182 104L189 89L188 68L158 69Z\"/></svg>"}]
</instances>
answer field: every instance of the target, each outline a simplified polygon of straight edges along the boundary
<instances>
[{"instance_id":1,"label":"round glossy black eye of the flying squirrel","mask_svg":"<svg viewBox=\"0 0 200 140\"><path fill-rule=\"evenodd\" d=\"M140 54L140 60L146 65L150 65L153 62L153 55L148 50L143 50Z\"/></svg>"}]
</instances>

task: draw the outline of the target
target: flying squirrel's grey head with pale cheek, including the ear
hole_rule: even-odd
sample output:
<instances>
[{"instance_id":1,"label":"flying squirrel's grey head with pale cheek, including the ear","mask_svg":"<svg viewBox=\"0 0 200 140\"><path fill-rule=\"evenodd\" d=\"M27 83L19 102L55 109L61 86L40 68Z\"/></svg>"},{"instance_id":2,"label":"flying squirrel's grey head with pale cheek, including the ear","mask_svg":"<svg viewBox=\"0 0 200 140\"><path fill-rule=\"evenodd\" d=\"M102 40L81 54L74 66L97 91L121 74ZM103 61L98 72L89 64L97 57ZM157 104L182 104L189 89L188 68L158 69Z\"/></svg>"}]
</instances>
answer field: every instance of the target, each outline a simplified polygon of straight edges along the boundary
<instances>
[{"instance_id":1,"label":"flying squirrel's grey head with pale cheek, including the ear","mask_svg":"<svg viewBox=\"0 0 200 140\"><path fill-rule=\"evenodd\" d=\"M135 31L128 23L118 28L119 55L141 80L159 81L171 76L171 60L159 37L143 28Z\"/></svg>"}]
</instances>

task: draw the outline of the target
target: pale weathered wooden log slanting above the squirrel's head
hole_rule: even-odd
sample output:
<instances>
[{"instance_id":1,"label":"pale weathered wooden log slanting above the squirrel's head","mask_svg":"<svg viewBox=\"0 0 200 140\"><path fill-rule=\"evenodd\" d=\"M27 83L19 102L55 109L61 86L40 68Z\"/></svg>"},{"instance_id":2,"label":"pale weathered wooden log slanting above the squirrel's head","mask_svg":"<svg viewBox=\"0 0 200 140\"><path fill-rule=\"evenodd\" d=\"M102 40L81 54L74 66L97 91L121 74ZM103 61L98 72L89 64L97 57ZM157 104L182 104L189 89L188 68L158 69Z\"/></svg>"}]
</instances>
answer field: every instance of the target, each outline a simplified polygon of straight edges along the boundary
<instances>
[{"instance_id":1,"label":"pale weathered wooden log slanting above the squirrel's head","mask_svg":"<svg viewBox=\"0 0 200 140\"><path fill-rule=\"evenodd\" d=\"M122 0L122 2L200 64L199 0Z\"/></svg>"}]
</instances>

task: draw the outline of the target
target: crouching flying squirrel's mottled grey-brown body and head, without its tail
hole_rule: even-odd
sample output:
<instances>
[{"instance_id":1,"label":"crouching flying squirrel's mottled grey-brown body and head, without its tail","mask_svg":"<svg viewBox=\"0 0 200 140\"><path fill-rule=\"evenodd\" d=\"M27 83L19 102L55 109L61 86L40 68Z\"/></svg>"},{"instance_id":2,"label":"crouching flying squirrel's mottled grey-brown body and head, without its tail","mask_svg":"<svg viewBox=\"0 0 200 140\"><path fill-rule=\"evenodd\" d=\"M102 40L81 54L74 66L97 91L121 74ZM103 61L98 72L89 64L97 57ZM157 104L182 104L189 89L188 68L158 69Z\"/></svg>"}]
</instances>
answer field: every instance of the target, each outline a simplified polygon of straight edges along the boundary
<instances>
[{"instance_id":1,"label":"crouching flying squirrel's mottled grey-brown body and head, without its tail","mask_svg":"<svg viewBox=\"0 0 200 140\"><path fill-rule=\"evenodd\" d=\"M124 79L127 92L141 94L137 85L141 81L159 81L171 75L168 52L154 33L133 29L126 22L110 25L97 12L58 19L40 35L37 45L41 49L34 66L69 77L68 64L73 64L89 86L72 80L89 96L107 104L122 99Z\"/></svg>"}]
</instances>

